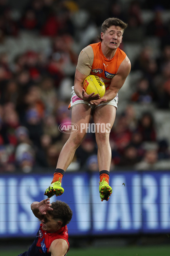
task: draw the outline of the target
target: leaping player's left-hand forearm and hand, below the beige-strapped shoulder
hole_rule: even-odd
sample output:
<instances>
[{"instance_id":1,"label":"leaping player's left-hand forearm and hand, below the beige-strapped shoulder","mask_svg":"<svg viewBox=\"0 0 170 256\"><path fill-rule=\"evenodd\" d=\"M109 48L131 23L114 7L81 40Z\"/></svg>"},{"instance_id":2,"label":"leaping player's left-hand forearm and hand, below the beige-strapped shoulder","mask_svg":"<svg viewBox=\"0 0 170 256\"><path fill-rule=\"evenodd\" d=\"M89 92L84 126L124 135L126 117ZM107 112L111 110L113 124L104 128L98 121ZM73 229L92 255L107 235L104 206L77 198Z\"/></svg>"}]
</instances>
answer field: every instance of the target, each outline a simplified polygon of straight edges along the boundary
<instances>
[{"instance_id":1,"label":"leaping player's left-hand forearm and hand, below the beige-strapped shoulder","mask_svg":"<svg viewBox=\"0 0 170 256\"><path fill-rule=\"evenodd\" d=\"M74 83L74 91L75 91L76 95L79 98L81 98L82 100L88 101L88 102L92 101L92 100L99 99L100 98L99 94L91 93L91 94L87 95L87 93L83 89L83 81L84 81L84 79L86 77L87 77L87 75L83 75L82 73L80 73L80 71L78 71L76 69L76 72L75 72L75 83Z\"/></svg>"}]
</instances>

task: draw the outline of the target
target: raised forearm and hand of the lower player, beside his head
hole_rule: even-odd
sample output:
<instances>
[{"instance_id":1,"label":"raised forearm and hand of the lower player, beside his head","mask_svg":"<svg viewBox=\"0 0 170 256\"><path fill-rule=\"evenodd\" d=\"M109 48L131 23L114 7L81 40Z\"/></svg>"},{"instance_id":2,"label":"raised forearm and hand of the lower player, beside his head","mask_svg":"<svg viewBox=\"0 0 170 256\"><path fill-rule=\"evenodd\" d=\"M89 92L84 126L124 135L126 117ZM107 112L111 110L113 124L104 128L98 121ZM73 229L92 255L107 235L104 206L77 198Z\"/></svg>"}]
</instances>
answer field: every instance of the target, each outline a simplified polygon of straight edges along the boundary
<instances>
[{"instance_id":1,"label":"raised forearm and hand of the lower player, beside his head","mask_svg":"<svg viewBox=\"0 0 170 256\"><path fill-rule=\"evenodd\" d=\"M53 210L51 207L50 199L44 199L40 202L33 202L31 204L31 210L35 217L42 220L43 215L46 214L48 210Z\"/></svg>"}]
</instances>

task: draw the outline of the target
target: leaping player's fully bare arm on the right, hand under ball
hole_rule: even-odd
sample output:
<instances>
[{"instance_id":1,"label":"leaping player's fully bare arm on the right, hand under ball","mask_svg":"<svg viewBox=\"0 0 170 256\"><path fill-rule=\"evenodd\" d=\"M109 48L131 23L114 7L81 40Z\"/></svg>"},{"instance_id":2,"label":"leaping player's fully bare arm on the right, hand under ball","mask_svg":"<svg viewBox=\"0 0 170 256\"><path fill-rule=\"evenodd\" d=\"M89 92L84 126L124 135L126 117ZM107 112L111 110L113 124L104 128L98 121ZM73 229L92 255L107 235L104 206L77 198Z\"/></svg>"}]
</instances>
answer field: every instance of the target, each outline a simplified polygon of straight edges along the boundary
<instances>
[{"instance_id":1,"label":"leaping player's fully bare arm on the right, hand under ball","mask_svg":"<svg viewBox=\"0 0 170 256\"><path fill-rule=\"evenodd\" d=\"M123 86L127 76L130 73L130 70L131 70L131 63L128 57L126 56L126 58L120 64L120 67L116 75L112 78L110 87L108 90L106 90L105 95L101 99L97 101L93 101L93 104L99 105L101 103L100 100L102 99L105 99L106 102L113 100L116 97L120 88Z\"/></svg>"}]
</instances>

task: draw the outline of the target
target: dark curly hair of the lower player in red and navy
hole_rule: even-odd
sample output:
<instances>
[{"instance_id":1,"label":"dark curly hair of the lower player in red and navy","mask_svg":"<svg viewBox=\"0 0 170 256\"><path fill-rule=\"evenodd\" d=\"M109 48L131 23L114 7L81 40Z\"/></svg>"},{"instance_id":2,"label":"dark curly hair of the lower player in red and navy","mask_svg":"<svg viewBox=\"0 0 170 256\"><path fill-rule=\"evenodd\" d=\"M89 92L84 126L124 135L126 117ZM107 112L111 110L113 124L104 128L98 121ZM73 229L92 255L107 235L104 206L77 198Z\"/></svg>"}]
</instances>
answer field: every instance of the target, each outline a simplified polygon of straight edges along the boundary
<instances>
[{"instance_id":1,"label":"dark curly hair of the lower player in red and navy","mask_svg":"<svg viewBox=\"0 0 170 256\"><path fill-rule=\"evenodd\" d=\"M61 219L63 222L62 227L70 222L73 212L69 205L57 200L56 202L52 202L51 208L53 208L53 211L48 211L48 213L52 215L53 219Z\"/></svg>"}]
</instances>

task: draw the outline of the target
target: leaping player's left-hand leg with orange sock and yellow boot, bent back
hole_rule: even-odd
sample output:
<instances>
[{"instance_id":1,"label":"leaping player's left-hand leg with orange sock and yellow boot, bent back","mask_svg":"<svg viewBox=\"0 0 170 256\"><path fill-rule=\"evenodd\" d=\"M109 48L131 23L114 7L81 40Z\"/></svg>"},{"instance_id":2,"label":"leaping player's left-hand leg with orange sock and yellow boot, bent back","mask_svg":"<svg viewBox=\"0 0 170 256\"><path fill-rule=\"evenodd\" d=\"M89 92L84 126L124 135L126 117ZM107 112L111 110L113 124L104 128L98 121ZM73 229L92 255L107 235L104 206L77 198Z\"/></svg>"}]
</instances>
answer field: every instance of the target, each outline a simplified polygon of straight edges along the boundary
<instances>
[{"instance_id":1,"label":"leaping player's left-hand leg with orange sock and yellow boot, bent back","mask_svg":"<svg viewBox=\"0 0 170 256\"><path fill-rule=\"evenodd\" d=\"M54 177L51 185L46 189L44 195L49 198L53 195L61 195L64 189L61 187L61 179L67 170L68 166L71 164L75 151L81 144L84 136L86 135L85 129L80 129L82 123L89 123L91 118L91 107L87 104L76 104L71 110L71 122L76 123L79 129L75 133L70 133L69 139L63 146L57 166L54 172Z\"/></svg>"}]
</instances>

